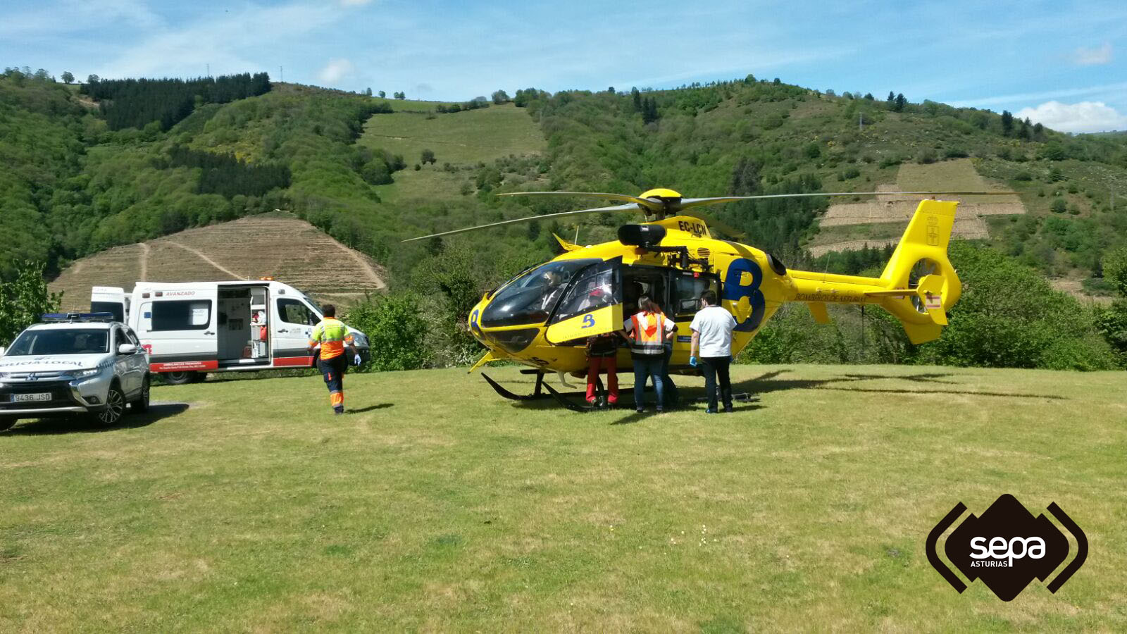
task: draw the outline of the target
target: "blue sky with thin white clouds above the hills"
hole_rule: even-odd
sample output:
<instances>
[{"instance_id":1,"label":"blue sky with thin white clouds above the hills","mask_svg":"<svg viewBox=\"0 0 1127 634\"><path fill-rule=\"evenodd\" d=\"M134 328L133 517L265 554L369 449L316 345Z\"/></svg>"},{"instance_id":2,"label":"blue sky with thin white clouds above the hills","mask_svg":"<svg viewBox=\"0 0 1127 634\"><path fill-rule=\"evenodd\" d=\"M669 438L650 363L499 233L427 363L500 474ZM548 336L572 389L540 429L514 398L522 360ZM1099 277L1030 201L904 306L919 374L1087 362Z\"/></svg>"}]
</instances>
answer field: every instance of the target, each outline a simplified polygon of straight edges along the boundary
<instances>
[{"instance_id":1,"label":"blue sky with thin white clouds above the hills","mask_svg":"<svg viewBox=\"0 0 1127 634\"><path fill-rule=\"evenodd\" d=\"M286 81L451 100L754 73L1127 130L1122 1L15 0L0 58L79 78L283 67Z\"/></svg>"}]
</instances>

